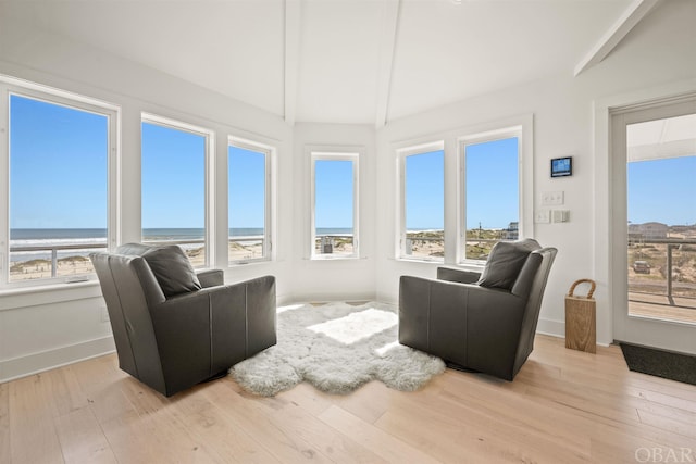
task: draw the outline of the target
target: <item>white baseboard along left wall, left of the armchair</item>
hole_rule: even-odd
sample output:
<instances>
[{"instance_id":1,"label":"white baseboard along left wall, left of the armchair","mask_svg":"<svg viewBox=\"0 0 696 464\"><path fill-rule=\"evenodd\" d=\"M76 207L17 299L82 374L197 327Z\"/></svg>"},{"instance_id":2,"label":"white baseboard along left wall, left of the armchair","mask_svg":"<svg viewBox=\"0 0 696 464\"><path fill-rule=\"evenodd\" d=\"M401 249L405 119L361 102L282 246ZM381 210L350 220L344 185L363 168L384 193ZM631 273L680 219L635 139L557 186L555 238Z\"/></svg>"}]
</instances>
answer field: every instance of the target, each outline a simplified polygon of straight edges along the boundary
<instances>
[{"instance_id":1,"label":"white baseboard along left wall, left of the armchair","mask_svg":"<svg viewBox=\"0 0 696 464\"><path fill-rule=\"evenodd\" d=\"M113 353L112 336L83 341L67 347L0 361L0 383L26 377L44 371Z\"/></svg>"}]
</instances>

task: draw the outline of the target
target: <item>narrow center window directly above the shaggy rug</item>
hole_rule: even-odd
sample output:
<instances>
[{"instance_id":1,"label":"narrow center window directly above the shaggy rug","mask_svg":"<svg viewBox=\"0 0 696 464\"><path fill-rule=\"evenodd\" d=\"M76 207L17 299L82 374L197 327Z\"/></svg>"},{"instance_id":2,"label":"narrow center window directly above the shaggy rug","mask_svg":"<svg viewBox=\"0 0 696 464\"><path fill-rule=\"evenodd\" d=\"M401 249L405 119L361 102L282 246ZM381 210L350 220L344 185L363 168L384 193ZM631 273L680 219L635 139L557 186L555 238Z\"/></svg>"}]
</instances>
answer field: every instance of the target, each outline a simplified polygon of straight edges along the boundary
<instances>
[{"instance_id":1,"label":"narrow center window directly above the shaggy rug","mask_svg":"<svg viewBox=\"0 0 696 464\"><path fill-rule=\"evenodd\" d=\"M311 159L312 258L358 258L358 153Z\"/></svg>"}]
</instances>

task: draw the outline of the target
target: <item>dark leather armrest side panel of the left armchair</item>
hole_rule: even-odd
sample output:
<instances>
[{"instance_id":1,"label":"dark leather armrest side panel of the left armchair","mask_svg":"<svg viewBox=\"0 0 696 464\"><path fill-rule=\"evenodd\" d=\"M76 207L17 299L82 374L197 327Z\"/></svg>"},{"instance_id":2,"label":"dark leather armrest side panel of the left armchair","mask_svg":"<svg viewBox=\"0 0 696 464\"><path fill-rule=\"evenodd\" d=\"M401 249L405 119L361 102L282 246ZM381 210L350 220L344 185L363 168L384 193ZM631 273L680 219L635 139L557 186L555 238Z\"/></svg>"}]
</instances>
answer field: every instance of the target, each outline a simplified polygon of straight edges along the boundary
<instances>
[{"instance_id":1,"label":"dark leather armrest side panel of the left armchair","mask_svg":"<svg viewBox=\"0 0 696 464\"><path fill-rule=\"evenodd\" d=\"M150 316L170 391L228 369L276 342L275 278L177 294Z\"/></svg>"}]
</instances>

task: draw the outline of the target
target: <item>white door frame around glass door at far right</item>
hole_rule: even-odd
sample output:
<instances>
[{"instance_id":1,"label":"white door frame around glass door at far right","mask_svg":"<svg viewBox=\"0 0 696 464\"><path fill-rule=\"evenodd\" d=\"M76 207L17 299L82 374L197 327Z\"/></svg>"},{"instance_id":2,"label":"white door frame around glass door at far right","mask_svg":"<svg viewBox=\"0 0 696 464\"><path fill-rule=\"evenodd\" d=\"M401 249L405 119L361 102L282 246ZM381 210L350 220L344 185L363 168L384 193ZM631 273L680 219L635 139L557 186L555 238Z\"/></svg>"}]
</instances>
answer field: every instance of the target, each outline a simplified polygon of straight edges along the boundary
<instances>
[{"instance_id":1,"label":"white door frame around glass door at far right","mask_svg":"<svg viewBox=\"0 0 696 464\"><path fill-rule=\"evenodd\" d=\"M670 108L688 99L694 99L696 111L696 79L594 102L596 298L598 306L605 308L597 315L599 342L627 341L696 353L695 326L627 315L625 155L612 155L613 115L621 114L624 122L633 122L639 111L661 108L666 114L662 117L668 117L675 115Z\"/></svg>"}]
</instances>

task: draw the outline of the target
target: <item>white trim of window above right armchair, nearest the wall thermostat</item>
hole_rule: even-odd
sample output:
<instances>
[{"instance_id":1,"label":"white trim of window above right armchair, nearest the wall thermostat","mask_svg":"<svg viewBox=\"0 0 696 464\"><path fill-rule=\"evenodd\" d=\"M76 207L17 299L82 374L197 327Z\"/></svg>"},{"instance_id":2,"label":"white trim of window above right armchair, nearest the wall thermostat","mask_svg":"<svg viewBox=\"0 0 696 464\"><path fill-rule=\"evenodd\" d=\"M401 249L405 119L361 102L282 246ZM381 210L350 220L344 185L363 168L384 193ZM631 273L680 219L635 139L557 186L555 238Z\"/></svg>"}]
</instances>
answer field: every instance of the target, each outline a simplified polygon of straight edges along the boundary
<instances>
[{"instance_id":1,"label":"white trim of window above right armchair, nearest the wall thermostat","mask_svg":"<svg viewBox=\"0 0 696 464\"><path fill-rule=\"evenodd\" d=\"M518 116L485 125L465 128L464 135L457 138L457 264L477 269L483 268L485 261L465 259L467 238L467 199L465 199L465 148L469 145L518 138L518 198L519 198L519 237L534 237L534 168L533 168L533 134L534 117L532 114Z\"/></svg>"}]
</instances>

